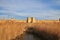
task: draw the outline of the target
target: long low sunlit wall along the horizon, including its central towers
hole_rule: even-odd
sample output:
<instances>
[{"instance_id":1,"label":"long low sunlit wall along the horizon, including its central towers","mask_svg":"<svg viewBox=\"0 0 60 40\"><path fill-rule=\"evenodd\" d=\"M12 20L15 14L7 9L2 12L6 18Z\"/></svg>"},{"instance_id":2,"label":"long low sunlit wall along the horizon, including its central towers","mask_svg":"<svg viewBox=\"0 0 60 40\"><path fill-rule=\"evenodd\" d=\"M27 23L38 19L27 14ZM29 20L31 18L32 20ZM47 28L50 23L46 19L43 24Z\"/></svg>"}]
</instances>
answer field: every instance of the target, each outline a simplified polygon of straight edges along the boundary
<instances>
[{"instance_id":1,"label":"long low sunlit wall along the horizon, including its central towers","mask_svg":"<svg viewBox=\"0 0 60 40\"><path fill-rule=\"evenodd\" d=\"M25 22L25 23L40 23L40 22L60 22L59 20L36 20L34 17L28 17L27 20L16 20L14 18L9 19L10 21L15 21L15 22ZM5 22L6 20L0 20L0 22Z\"/></svg>"}]
</instances>

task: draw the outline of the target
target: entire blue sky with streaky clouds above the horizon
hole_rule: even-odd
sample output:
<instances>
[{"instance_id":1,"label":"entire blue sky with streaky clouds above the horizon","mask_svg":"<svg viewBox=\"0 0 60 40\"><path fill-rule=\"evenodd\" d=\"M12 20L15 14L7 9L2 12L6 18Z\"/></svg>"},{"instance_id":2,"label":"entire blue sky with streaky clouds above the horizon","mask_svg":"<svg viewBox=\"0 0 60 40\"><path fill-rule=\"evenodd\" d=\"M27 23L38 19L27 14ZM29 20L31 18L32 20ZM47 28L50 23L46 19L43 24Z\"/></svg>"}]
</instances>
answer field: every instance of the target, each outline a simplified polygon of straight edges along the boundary
<instances>
[{"instance_id":1,"label":"entire blue sky with streaky clouds above the horizon","mask_svg":"<svg viewBox=\"0 0 60 40\"><path fill-rule=\"evenodd\" d=\"M0 0L0 18L60 18L60 0Z\"/></svg>"}]
</instances>

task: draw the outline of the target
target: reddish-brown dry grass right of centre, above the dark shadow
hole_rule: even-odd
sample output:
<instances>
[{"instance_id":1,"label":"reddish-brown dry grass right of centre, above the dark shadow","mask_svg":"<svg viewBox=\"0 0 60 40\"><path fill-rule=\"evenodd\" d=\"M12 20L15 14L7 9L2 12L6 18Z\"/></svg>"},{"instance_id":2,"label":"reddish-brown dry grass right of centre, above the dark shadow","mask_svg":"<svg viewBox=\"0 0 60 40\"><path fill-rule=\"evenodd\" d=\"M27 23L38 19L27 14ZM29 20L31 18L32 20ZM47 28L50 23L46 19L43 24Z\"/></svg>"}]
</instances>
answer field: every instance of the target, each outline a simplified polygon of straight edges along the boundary
<instances>
[{"instance_id":1,"label":"reddish-brown dry grass right of centre, above the dark shadow","mask_svg":"<svg viewBox=\"0 0 60 40\"><path fill-rule=\"evenodd\" d=\"M58 34L60 36L60 22L52 21L52 22L40 22L34 25L35 29L38 31L46 31L52 34Z\"/></svg>"}]
</instances>

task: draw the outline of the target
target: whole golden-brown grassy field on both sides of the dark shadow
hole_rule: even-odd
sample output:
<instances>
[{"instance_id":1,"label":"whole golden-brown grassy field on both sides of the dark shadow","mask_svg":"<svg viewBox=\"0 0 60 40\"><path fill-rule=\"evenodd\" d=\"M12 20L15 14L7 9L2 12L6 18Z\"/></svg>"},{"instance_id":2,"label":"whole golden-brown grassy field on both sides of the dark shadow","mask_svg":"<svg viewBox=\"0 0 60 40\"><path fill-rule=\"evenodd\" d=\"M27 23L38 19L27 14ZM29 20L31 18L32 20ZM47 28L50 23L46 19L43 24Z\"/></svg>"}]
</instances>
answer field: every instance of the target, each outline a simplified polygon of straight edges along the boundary
<instances>
[{"instance_id":1,"label":"whole golden-brown grassy field on both sides of the dark shadow","mask_svg":"<svg viewBox=\"0 0 60 40\"><path fill-rule=\"evenodd\" d=\"M26 28L32 27L36 32L44 31L49 34L56 34L60 37L59 21L39 21L36 23L25 23L11 20L0 20L0 40L11 40L17 35L23 34Z\"/></svg>"}]
</instances>

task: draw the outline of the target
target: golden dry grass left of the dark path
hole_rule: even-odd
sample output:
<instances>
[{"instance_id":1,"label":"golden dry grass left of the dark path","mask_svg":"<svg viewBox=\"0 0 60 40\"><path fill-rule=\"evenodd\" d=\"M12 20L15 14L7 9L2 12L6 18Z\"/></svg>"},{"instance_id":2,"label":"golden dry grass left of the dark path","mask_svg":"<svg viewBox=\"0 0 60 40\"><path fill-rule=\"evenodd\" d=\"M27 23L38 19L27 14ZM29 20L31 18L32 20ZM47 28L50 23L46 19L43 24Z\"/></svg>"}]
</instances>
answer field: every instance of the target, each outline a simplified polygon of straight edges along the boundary
<instances>
[{"instance_id":1,"label":"golden dry grass left of the dark path","mask_svg":"<svg viewBox=\"0 0 60 40\"><path fill-rule=\"evenodd\" d=\"M25 23L2 20L0 22L0 40L9 40L23 33Z\"/></svg>"}]
</instances>

